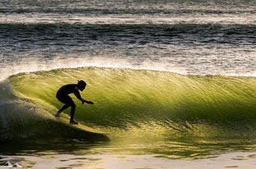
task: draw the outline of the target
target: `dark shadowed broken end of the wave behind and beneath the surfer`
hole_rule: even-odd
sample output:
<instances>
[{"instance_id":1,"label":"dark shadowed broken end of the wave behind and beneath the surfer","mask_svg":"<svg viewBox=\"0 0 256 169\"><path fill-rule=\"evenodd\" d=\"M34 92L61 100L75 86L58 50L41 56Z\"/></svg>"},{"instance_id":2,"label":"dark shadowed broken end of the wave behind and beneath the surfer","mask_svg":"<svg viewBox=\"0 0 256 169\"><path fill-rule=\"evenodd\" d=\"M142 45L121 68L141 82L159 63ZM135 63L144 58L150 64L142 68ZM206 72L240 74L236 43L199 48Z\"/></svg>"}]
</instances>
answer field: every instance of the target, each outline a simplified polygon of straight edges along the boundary
<instances>
[{"instance_id":1,"label":"dark shadowed broken end of the wave behind and beneath the surfer","mask_svg":"<svg viewBox=\"0 0 256 169\"><path fill-rule=\"evenodd\" d=\"M57 122L53 115L31 100L15 96L7 81L0 84L0 142L70 138L107 141L102 134L80 131Z\"/></svg>"}]
</instances>

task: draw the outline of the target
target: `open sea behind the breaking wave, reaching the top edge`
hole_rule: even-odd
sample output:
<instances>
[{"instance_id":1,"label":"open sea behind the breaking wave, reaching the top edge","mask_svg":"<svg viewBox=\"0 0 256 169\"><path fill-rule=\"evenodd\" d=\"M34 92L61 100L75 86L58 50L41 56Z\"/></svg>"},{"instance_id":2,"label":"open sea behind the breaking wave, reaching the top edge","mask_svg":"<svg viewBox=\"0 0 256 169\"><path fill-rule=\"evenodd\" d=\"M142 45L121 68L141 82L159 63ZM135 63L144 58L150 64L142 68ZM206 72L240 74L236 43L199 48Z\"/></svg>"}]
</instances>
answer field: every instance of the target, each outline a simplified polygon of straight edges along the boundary
<instances>
[{"instance_id":1,"label":"open sea behind the breaking wave, reaching the top edge","mask_svg":"<svg viewBox=\"0 0 256 169\"><path fill-rule=\"evenodd\" d=\"M0 72L96 65L254 74L255 3L1 0Z\"/></svg>"}]
</instances>

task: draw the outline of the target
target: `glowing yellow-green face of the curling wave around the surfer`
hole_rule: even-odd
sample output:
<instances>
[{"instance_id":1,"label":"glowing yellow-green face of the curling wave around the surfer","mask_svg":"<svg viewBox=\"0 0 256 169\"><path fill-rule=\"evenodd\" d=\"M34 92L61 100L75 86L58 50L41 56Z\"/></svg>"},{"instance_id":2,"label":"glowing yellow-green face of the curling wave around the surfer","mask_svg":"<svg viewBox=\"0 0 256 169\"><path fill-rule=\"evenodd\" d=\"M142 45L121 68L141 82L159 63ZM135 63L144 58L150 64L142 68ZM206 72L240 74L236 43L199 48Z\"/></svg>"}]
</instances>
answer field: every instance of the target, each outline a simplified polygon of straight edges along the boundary
<instances>
[{"instance_id":1,"label":"glowing yellow-green face of the curling wave around the surfer","mask_svg":"<svg viewBox=\"0 0 256 169\"><path fill-rule=\"evenodd\" d=\"M9 78L16 95L56 113L59 87L85 80L74 95L75 118L112 136L170 140L179 136L255 136L256 78L87 67L19 73ZM70 109L65 113L69 114Z\"/></svg>"}]
</instances>

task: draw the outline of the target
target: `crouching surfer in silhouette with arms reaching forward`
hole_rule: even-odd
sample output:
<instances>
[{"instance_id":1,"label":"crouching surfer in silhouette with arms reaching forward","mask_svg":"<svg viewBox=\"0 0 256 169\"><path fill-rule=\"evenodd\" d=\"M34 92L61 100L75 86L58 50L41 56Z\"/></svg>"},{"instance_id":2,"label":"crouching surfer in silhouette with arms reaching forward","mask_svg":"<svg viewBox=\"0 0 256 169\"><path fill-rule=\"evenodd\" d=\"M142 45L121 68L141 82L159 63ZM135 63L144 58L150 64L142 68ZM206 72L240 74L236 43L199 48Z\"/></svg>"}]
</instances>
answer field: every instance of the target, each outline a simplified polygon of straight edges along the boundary
<instances>
[{"instance_id":1,"label":"crouching surfer in silhouette with arms reaching forward","mask_svg":"<svg viewBox=\"0 0 256 169\"><path fill-rule=\"evenodd\" d=\"M75 96L77 97L77 99L81 100L82 104L84 105L84 103L90 104L90 105L94 105L94 102L92 101L87 101L84 100L81 96L80 96L80 92L79 91L84 91L86 87L86 82L85 81L78 81L77 84L67 84L62 86L56 94L57 100L61 101L63 104L62 109L59 109L57 111L57 114L55 114L55 117L59 117L60 113L62 113L63 110L71 107L71 120L70 123L71 124L78 124L78 122L75 122L74 120L74 114L75 114L75 103L74 101L71 99L71 96L68 96L71 93L74 93Z\"/></svg>"}]
</instances>

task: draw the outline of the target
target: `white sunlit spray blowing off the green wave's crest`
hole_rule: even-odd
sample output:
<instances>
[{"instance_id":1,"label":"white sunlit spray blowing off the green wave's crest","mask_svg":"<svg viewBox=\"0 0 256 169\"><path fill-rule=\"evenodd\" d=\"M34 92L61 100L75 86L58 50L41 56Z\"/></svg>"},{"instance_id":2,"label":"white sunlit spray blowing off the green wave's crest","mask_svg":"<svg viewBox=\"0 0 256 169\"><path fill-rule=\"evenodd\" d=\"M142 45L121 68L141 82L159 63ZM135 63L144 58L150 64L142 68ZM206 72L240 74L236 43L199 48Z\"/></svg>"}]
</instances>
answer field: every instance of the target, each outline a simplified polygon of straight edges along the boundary
<instances>
[{"instance_id":1,"label":"white sunlit spray blowing off the green wave's crest","mask_svg":"<svg viewBox=\"0 0 256 169\"><path fill-rule=\"evenodd\" d=\"M102 67L102 68L126 68L126 69L150 69L159 71L170 71L175 73L186 74L187 71L184 67L171 65L170 63L159 61L153 62L152 60L144 60L140 64L134 64L132 60L121 59L117 57L107 56L82 56L79 58L67 57L62 59L61 57L48 60L45 63L38 59L34 60L21 60L19 63L7 66L7 68L0 69L2 77L0 80L4 80L7 77L24 72L34 72L39 70L52 70L61 68L79 68L79 67Z\"/></svg>"}]
</instances>

